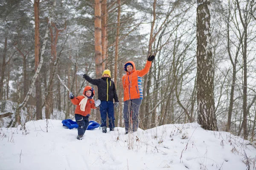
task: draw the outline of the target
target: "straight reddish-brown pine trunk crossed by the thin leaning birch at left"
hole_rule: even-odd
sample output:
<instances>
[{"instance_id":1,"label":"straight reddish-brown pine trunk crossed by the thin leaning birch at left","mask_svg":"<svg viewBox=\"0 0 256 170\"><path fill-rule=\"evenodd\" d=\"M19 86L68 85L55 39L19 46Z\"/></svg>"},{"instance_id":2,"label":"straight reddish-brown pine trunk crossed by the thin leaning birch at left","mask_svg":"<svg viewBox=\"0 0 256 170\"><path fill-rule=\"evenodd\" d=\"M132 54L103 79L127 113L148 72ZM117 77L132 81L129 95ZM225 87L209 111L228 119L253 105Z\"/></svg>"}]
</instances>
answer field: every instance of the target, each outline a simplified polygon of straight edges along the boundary
<instances>
[{"instance_id":1,"label":"straight reddish-brown pine trunk crossed by the thin leaning birch at left","mask_svg":"<svg viewBox=\"0 0 256 170\"><path fill-rule=\"evenodd\" d=\"M39 3L40 0L34 0L35 13L35 71L39 65L40 35L39 35ZM36 100L36 119L42 119L42 95L41 95L40 75L35 81L35 100Z\"/></svg>"}]
</instances>

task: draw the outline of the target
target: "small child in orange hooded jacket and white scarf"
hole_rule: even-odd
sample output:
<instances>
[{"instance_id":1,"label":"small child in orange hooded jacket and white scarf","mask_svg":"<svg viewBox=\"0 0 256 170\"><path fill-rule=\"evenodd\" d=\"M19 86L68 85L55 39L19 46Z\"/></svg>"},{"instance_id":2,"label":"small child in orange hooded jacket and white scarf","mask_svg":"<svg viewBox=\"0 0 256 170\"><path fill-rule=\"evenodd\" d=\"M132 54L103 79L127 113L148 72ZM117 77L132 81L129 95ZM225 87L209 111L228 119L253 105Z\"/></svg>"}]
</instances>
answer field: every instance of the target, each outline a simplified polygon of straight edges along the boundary
<instances>
[{"instance_id":1,"label":"small child in orange hooded jacket and white scarf","mask_svg":"<svg viewBox=\"0 0 256 170\"><path fill-rule=\"evenodd\" d=\"M91 109L96 109L100 105L100 100L94 101L93 95L94 90L91 86L87 85L84 88L82 96L75 97L72 92L70 92L69 97L73 105L76 105L75 119L78 125L78 136L76 139L82 140L84 132L89 125L89 116Z\"/></svg>"}]
</instances>

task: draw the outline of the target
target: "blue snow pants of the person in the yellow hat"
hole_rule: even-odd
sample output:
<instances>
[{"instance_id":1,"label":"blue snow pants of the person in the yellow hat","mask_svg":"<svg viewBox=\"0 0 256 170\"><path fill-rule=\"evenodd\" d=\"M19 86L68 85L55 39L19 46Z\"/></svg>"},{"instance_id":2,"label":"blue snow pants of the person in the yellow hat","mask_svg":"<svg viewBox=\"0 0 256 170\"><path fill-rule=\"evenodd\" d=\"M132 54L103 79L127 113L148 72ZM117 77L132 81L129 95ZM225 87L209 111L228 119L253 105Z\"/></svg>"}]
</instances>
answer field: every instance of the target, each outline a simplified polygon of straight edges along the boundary
<instances>
[{"instance_id":1,"label":"blue snow pants of the person in the yellow hat","mask_svg":"<svg viewBox=\"0 0 256 170\"><path fill-rule=\"evenodd\" d=\"M115 128L114 104L113 101L101 101L99 106L101 116L101 127L107 126L107 114L109 119L109 128Z\"/></svg>"}]
</instances>

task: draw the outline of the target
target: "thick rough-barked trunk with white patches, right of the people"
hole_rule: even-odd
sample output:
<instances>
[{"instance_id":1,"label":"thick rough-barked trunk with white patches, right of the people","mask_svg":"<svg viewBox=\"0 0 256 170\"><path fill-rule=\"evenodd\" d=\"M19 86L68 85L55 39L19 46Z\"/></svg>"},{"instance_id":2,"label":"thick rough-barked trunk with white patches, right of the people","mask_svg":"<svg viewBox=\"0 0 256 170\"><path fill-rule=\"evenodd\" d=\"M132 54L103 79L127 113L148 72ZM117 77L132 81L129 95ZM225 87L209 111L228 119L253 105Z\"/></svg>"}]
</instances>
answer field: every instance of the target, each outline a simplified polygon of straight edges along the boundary
<instances>
[{"instance_id":1,"label":"thick rough-barked trunk with white patches, right of the people","mask_svg":"<svg viewBox=\"0 0 256 170\"><path fill-rule=\"evenodd\" d=\"M213 94L213 64L210 33L210 0L197 0L197 100L198 123L218 130Z\"/></svg>"}]
</instances>

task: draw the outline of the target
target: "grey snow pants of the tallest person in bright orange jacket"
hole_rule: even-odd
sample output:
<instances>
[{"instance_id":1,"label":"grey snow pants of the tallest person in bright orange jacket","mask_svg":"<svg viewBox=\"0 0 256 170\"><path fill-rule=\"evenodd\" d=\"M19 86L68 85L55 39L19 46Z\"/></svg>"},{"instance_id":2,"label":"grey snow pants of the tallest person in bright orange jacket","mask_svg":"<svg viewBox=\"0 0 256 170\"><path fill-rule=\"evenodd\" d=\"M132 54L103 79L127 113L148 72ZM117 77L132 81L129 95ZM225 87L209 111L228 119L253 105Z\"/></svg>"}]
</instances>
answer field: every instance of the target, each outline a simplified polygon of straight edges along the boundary
<instances>
[{"instance_id":1,"label":"grey snow pants of the tallest person in bright orange jacket","mask_svg":"<svg viewBox=\"0 0 256 170\"><path fill-rule=\"evenodd\" d=\"M124 102L125 132L138 130L141 102L142 99L131 99Z\"/></svg>"}]
</instances>

